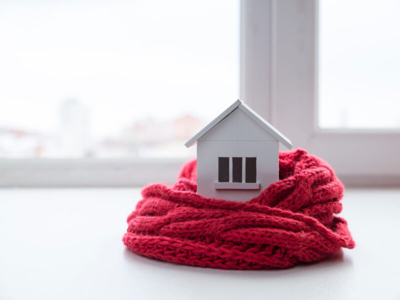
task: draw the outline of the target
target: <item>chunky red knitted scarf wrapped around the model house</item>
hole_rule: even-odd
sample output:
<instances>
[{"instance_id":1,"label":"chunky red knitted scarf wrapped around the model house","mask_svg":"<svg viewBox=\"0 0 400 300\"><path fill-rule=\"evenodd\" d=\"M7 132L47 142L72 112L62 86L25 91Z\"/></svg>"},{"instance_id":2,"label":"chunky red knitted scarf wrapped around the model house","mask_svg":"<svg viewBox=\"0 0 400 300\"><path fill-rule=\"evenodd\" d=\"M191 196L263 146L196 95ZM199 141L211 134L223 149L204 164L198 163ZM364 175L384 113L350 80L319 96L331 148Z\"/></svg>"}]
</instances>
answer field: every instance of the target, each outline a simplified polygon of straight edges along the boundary
<instances>
[{"instance_id":1,"label":"chunky red knitted scarf wrapped around the model house","mask_svg":"<svg viewBox=\"0 0 400 300\"><path fill-rule=\"evenodd\" d=\"M196 160L173 187L143 188L123 243L139 254L222 269L286 268L321 260L354 241L332 168L298 149L279 153L279 181L246 202L196 194Z\"/></svg>"}]
</instances>

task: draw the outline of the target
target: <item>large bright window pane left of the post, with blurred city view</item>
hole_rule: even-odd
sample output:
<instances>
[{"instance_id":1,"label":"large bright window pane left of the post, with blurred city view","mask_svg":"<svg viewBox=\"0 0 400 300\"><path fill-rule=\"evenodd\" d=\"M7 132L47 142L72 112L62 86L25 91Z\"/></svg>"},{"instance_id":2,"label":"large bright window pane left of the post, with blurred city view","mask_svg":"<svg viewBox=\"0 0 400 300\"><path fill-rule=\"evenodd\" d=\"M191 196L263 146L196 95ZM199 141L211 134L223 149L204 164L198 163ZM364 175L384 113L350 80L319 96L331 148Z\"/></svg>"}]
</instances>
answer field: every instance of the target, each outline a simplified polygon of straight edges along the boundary
<instances>
[{"instance_id":1,"label":"large bright window pane left of the post, with blurred city view","mask_svg":"<svg viewBox=\"0 0 400 300\"><path fill-rule=\"evenodd\" d=\"M238 98L238 7L0 1L0 157L194 156Z\"/></svg>"}]
</instances>

